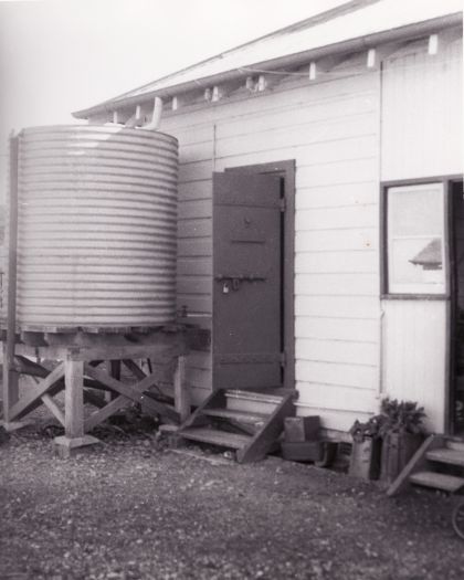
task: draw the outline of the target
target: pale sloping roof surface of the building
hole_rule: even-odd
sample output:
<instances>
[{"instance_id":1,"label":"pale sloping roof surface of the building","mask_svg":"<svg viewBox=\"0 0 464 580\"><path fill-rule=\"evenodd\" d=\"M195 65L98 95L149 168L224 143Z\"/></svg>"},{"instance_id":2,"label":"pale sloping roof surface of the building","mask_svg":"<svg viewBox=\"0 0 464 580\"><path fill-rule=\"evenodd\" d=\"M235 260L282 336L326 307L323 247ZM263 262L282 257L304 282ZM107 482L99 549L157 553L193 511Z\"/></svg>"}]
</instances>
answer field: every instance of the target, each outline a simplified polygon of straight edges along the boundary
<instances>
[{"instance_id":1,"label":"pale sloping roof surface of the building","mask_svg":"<svg viewBox=\"0 0 464 580\"><path fill-rule=\"evenodd\" d=\"M187 91L189 85L200 80L212 81L214 77L231 72L246 74L246 68L265 67L266 63L276 63L285 56L306 54L356 39L372 38L373 41L376 34L460 12L462 18L462 0L354 0L159 78L101 105L75 113L75 116L85 117L108 108L108 105L115 106L140 101L143 97L156 94L173 94L171 89L176 87Z\"/></svg>"}]
</instances>

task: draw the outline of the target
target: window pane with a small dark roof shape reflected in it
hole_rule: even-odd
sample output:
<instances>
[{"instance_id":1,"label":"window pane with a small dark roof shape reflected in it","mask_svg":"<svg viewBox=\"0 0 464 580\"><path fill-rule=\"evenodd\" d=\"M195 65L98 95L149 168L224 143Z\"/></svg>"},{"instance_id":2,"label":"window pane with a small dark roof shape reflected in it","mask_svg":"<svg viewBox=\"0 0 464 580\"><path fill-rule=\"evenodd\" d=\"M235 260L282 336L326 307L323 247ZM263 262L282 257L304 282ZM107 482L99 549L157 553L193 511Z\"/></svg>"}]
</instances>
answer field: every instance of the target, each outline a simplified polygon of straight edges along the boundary
<instances>
[{"instance_id":1,"label":"window pane with a small dark roof shape reflected in it","mask_svg":"<svg viewBox=\"0 0 464 580\"><path fill-rule=\"evenodd\" d=\"M442 182L387 188L387 292L444 294Z\"/></svg>"}]
</instances>

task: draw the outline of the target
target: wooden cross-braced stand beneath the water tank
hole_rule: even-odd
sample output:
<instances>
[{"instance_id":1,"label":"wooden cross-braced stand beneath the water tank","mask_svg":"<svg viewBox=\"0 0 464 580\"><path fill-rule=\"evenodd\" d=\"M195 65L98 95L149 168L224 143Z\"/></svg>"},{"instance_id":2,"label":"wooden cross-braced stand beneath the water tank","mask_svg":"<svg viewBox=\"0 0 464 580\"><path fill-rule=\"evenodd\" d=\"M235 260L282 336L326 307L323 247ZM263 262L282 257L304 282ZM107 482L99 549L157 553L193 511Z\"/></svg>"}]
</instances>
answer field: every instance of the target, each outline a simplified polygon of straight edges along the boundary
<instances>
[{"instance_id":1,"label":"wooden cross-braced stand beneath the water tank","mask_svg":"<svg viewBox=\"0 0 464 580\"><path fill-rule=\"evenodd\" d=\"M184 388L184 357L190 348L204 347L209 335L187 326L127 334L23 331L15 335L12 350L8 334L2 339L6 429L20 426L19 421L44 404L64 426L64 436L54 442L60 455L67 456L72 450L97 443L88 434L92 429L133 403L140 404L143 412L161 415L175 424L187 419L190 402ZM34 358L57 363L50 370L31 360ZM155 362L151 371L143 370L140 359ZM166 363L168 367L170 363L173 376ZM122 381L122 365L130 371L131 380ZM21 397L20 377L28 380ZM160 381L169 380L173 382L173 407L152 398L149 392ZM63 390L64 410L54 400ZM98 397L95 390L112 393L110 400ZM85 403L96 409L85 415Z\"/></svg>"}]
</instances>

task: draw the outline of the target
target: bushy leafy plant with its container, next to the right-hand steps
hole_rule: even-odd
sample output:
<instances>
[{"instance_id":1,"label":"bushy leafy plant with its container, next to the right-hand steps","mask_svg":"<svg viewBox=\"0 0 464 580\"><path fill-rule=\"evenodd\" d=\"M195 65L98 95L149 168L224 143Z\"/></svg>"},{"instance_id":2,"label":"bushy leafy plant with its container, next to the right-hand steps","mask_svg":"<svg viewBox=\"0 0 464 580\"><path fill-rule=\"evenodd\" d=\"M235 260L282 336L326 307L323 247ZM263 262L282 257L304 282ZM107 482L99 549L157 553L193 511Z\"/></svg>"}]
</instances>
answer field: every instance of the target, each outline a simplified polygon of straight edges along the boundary
<instances>
[{"instance_id":1,"label":"bushy leafy plant with its container, next to the right-hand steps","mask_svg":"<svg viewBox=\"0 0 464 580\"><path fill-rule=\"evenodd\" d=\"M425 418L416 402L384 399L380 410L379 435L382 439L380 478L392 483L421 446Z\"/></svg>"}]
</instances>

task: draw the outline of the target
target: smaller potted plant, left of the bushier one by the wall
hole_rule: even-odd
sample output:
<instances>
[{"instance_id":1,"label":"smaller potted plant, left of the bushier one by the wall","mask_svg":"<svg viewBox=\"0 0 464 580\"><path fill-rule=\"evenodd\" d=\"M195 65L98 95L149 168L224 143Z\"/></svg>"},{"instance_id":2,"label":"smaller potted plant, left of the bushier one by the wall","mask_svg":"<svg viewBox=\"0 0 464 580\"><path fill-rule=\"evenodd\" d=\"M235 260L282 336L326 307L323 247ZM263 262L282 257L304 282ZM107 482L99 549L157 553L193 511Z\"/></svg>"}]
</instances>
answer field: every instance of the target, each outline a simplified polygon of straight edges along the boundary
<instances>
[{"instance_id":1,"label":"smaller potted plant, left of the bushier one by the wall","mask_svg":"<svg viewBox=\"0 0 464 580\"><path fill-rule=\"evenodd\" d=\"M352 450L349 474L363 479L378 479L380 475L381 444L380 426L382 416L376 415L366 423L355 421L350 429Z\"/></svg>"}]
</instances>

